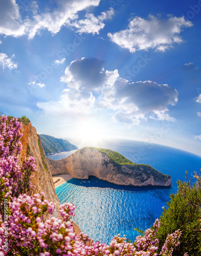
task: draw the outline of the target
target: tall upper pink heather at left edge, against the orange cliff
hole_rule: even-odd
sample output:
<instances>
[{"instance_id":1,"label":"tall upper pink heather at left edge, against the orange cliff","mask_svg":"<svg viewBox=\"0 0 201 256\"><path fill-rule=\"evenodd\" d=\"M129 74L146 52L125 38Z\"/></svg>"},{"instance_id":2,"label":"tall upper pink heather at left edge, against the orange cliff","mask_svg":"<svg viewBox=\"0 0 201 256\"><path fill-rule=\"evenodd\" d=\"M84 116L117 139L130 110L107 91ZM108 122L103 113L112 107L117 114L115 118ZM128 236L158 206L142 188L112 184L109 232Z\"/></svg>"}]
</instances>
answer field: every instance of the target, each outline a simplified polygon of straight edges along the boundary
<instances>
[{"instance_id":1,"label":"tall upper pink heather at left edge, against the orange cliff","mask_svg":"<svg viewBox=\"0 0 201 256\"><path fill-rule=\"evenodd\" d=\"M8 121L6 116L0 120L0 213L3 215L4 198L13 198L21 193L30 194L32 173L36 170L33 157L25 158L19 165L22 149L20 138L21 122L17 118Z\"/></svg>"}]
</instances>

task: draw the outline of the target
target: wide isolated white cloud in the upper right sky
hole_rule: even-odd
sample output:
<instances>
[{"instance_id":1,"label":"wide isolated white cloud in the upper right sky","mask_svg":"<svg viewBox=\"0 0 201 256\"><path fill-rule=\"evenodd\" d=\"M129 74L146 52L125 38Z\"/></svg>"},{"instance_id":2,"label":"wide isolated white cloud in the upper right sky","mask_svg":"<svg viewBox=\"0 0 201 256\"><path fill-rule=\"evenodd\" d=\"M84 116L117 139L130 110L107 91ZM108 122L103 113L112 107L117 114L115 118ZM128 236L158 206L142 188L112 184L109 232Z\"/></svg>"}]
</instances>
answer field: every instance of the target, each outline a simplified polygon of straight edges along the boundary
<instances>
[{"instance_id":1,"label":"wide isolated white cloud in the upper right sky","mask_svg":"<svg viewBox=\"0 0 201 256\"><path fill-rule=\"evenodd\" d=\"M179 36L182 29L191 26L193 24L184 17L168 15L166 19L159 19L149 15L145 19L136 16L129 22L128 29L107 35L111 41L130 52L149 49L164 52L174 43L182 42Z\"/></svg>"}]
</instances>

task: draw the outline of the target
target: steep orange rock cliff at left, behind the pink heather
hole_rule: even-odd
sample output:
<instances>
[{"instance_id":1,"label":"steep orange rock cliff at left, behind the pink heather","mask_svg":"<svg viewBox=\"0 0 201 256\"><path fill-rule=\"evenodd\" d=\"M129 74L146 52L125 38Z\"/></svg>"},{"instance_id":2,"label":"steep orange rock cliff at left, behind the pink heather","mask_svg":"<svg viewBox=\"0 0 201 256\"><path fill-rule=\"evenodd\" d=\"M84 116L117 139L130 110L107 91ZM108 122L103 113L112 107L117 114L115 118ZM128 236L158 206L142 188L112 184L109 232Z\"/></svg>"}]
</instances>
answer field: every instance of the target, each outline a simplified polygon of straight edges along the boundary
<instances>
[{"instance_id":1,"label":"steep orange rock cliff at left, behind the pink heather","mask_svg":"<svg viewBox=\"0 0 201 256\"><path fill-rule=\"evenodd\" d=\"M23 150L20 152L20 160L23 159L23 157L33 156L37 166L37 171L34 173L32 180L32 184L35 185L33 194L44 191L46 198L55 202L56 209L53 215L58 217L59 200L55 192L52 174L44 154L40 137L37 135L36 129L31 125L31 122L27 125L23 124L21 133L23 133L23 137L21 138Z\"/></svg>"}]
</instances>

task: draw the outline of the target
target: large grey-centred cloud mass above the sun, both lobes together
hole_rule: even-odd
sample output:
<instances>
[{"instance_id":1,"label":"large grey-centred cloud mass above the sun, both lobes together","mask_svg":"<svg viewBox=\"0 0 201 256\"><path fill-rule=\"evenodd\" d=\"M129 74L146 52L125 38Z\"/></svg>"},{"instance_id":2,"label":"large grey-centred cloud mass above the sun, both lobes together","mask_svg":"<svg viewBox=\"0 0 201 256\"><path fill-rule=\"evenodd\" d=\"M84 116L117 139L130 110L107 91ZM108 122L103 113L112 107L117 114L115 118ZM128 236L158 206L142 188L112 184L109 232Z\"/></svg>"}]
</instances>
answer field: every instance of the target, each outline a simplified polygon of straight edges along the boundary
<instances>
[{"instance_id":1,"label":"large grey-centred cloud mass above the sun, both lobes together","mask_svg":"<svg viewBox=\"0 0 201 256\"><path fill-rule=\"evenodd\" d=\"M168 105L177 102L174 88L152 81L129 83L119 76L118 70L104 70L103 65L104 61L96 58L72 61L61 77L68 89L60 101L38 102L38 107L45 112L55 108L58 113L110 110L113 121L128 125L137 125L147 118L175 121L167 114Z\"/></svg>"}]
</instances>

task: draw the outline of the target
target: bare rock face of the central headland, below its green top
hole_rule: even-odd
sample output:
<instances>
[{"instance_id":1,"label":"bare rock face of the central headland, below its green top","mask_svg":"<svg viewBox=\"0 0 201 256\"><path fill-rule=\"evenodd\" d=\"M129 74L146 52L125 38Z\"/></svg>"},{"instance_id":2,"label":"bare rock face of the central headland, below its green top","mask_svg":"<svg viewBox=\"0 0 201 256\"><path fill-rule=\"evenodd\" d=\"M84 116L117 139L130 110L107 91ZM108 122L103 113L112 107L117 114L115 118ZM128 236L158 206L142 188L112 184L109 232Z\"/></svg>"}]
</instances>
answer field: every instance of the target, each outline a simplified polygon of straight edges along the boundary
<instances>
[{"instance_id":1,"label":"bare rock face of the central headland, below its green top","mask_svg":"<svg viewBox=\"0 0 201 256\"><path fill-rule=\"evenodd\" d=\"M164 175L149 165L119 165L98 150L82 148L62 160L47 158L52 175L70 174L76 179L95 176L118 185L171 186L169 175Z\"/></svg>"}]
</instances>

